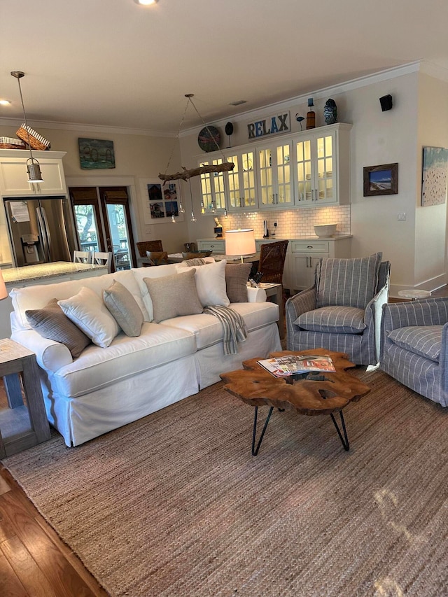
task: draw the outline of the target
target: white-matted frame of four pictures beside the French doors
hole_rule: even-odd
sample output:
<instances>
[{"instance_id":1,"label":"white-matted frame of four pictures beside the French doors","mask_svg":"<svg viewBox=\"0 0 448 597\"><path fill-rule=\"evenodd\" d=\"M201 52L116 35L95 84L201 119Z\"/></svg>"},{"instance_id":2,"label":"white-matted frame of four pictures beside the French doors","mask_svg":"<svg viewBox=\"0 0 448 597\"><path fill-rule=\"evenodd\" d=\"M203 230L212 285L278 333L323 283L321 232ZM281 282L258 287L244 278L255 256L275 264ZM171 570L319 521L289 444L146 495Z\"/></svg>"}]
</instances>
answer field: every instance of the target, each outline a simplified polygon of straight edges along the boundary
<instances>
[{"instance_id":1,"label":"white-matted frame of four pictures beside the French doors","mask_svg":"<svg viewBox=\"0 0 448 597\"><path fill-rule=\"evenodd\" d=\"M145 224L183 222L179 181L163 185L160 178L140 178Z\"/></svg>"}]
</instances>

